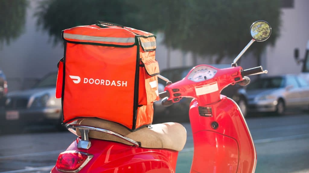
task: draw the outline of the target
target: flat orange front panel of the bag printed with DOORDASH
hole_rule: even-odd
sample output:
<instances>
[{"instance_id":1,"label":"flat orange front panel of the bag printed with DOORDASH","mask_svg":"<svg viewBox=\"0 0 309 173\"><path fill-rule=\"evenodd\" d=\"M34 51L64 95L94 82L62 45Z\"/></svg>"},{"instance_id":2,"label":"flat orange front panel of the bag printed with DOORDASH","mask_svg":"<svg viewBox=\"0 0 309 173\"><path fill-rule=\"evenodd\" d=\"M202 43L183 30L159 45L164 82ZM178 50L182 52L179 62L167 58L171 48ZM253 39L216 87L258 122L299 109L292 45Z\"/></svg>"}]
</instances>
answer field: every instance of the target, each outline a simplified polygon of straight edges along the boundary
<instances>
[{"instance_id":1,"label":"flat orange front panel of the bag printed with DOORDASH","mask_svg":"<svg viewBox=\"0 0 309 173\"><path fill-rule=\"evenodd\" d=\"M98 117L132 129L137 47L66 44L64 122Z\"/></svg>"}]
</instances>

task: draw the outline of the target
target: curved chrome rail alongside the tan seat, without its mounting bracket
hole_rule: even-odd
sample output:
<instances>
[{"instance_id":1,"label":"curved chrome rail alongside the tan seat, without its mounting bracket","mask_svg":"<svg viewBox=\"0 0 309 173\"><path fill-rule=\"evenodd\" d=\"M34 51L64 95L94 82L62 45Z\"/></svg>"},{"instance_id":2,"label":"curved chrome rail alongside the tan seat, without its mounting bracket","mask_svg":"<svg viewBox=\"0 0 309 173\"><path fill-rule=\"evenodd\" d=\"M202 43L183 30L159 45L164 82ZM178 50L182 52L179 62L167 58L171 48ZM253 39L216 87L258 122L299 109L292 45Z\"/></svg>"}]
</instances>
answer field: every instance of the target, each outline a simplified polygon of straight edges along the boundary
<instances>
[{"instance_id":1,"label":"curved chrome rail alongside the tan seat, without its mounting bracket","mask_svg":"<svg viewBox=\"0 0 309 173\"><path fill-rule=\"evenodd\" d=\"M77 134L76 134L76 131L73 128L88 129L88 130L93 130L93 131L99 131L99 132L107 133L107 134L116 136L116 137L118 137L120 139L123 139L125 141L128 141L129 143L133 144L135 147L139 147L139 143L138 142L136 142L136 141L134 141L134 140L132 140L132 139L130 139L128 137L125 137L123 135L120 135L119 133L116 133L114 131L110 131L110 130L107 130L107 129L102 129L102 128L99 128L99 127L83 126L83 125L79 125L79 124L67 125L66 128L70 132L72 132L74 135L77 135Z\"/></svg>"}]
</instances>

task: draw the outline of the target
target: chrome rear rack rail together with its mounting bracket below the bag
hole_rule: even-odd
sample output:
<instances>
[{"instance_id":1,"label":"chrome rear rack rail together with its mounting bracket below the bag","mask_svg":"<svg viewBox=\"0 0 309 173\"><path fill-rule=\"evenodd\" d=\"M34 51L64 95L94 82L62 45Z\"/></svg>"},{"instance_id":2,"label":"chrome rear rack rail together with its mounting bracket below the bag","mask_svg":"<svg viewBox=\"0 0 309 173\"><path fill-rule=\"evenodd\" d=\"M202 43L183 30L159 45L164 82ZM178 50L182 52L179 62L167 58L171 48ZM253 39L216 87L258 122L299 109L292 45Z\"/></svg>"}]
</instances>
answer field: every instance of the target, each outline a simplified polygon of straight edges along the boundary
<instances>
[{"instance_id":1,"label":"chrome rear rack rail together with its mounting bracket below the bag","mask_svg":"<svg viewBox=\"0 0 309 173\"><path fill-rule=\"evenodd\" d=\"M99 131L99 132L103 132L103 133L107 133L107 134L110 134L110 135L113 135L113 136L116 136L120 139L123 139L131 144L133 144L135 147L139 147L139 143L128 138L128 137L125 137L119 133L116 133L114 131L110 131L110 130L107 130L107 129L102 129L102 128L99 128L99 127L92 127L92 126L84 126L84 125L79 125L79 124L68 124L66 125L66 128L68 129L68 131L70 131L71 133L73 133L74 135L78 136L77 133L76 133L76 128L79 129L79 132L81 133L81 140L79 140L78 144L77 144L77 147L78 148L81 148L81 149L86 149L88 150L90 147L91 147L91 142L89 141L88 139L88 133L89 133L89 130L93 130L93 131Z\"/></svg>"}]
</instances>

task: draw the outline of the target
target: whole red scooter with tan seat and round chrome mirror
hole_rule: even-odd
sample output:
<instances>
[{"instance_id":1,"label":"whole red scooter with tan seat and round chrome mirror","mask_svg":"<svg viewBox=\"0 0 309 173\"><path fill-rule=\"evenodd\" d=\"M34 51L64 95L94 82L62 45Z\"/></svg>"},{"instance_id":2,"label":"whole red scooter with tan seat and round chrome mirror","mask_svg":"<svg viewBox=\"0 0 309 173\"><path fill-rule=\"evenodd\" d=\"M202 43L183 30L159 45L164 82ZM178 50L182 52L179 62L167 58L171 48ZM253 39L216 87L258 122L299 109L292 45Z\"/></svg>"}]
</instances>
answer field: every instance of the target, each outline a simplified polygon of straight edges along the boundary
<instances>
[{"instance_id":1,"label":"whole red scooter with tan seat and round chrome mirror","mask_svg":"<svg viewBox=\"0 0 309 173\"><path fill-rule=\"evenodd\" d=\"M271 28L265 21L254 22L252 40L234 59L231 68L199 65L182 80L167 78L162 104L169 106L183 97L194 98L189 116L194 155L191 172L252 173L256 150L238 105L224 95L228 85L247 85L248 75L267 73L262 67L243 70L236 62L254 41L265 41ZM78 138L62 152L51 173L172 173L178 151L186 141L186 131L178 123L162 123L130 132L110 121L84 118L66 126Z\"/></svg>"}]
</instances>

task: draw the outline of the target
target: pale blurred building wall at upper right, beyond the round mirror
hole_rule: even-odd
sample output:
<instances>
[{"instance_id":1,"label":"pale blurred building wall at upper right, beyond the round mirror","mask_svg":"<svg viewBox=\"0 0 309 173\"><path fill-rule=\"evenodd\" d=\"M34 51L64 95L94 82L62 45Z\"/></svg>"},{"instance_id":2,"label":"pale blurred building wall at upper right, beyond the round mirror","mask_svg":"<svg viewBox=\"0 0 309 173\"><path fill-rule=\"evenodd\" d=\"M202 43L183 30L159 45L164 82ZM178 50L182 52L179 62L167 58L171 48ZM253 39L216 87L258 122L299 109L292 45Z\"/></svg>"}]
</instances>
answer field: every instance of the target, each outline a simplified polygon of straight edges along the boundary
<instances>
[{"instance_id":1,"label":"pale blurred building wall at upper right, beyond the round mirror","mask_svg":"<svg viewBox=\"0 0 309 173\"><path fill-rule=\"evenodd\" d=\"M305 56L309 40L309 1L294 0L294 7L281 9L281 33L274 47L268 46L264 61L269 75L299 73L301 65L294 60L294 49Z\"/></svg>"}]
</instances>

